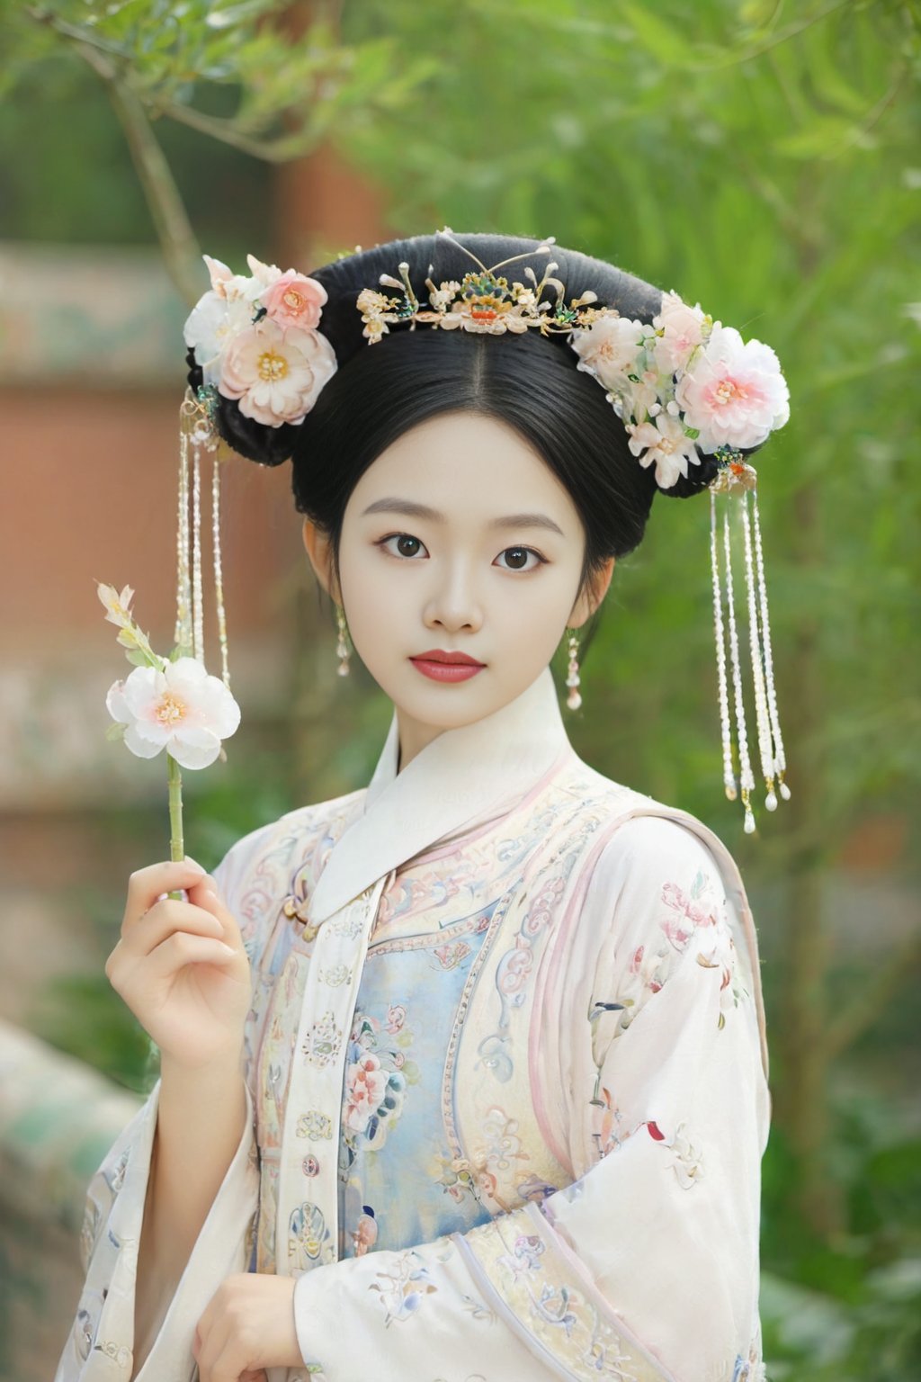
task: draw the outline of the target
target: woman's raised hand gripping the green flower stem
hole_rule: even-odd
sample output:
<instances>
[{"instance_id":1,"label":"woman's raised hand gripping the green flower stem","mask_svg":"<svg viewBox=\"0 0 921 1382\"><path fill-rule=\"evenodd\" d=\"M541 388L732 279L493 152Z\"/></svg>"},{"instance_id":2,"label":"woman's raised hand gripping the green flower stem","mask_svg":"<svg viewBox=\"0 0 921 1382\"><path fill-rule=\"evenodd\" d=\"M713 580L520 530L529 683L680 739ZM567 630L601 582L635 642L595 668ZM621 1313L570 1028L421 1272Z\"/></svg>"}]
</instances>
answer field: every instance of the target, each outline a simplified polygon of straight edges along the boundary
<instances>
[{"instance_id":1,"label":"woman's raised hand gripping the green flower stem","mask_svg":"<svg viewBox=\"0 0 921 1382\"><path fill-rule=\"evenodd\" d=\"M188 902L164 896L180 889ZM177 1066L203 1067L240 1049L250 962L214 879L193 860L131 875L122 938L105 973Z\"/></svg>"}]
</instances>

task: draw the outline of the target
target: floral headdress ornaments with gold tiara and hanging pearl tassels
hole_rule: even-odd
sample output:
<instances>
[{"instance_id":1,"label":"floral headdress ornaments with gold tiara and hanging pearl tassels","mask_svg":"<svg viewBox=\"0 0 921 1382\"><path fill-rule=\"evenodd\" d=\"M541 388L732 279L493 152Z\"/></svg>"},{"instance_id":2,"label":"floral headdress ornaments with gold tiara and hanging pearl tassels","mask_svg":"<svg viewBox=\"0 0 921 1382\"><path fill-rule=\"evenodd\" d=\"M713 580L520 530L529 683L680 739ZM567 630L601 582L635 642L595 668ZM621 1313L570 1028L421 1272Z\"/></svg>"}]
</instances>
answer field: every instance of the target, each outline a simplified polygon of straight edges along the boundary
<instances>
[{"instance_id":1,"label":"floral headdress ornaments with gold tiara and hanging pearl tassels","mask_svg":"<svg viewBox=\"0 0 921 1382\"><path fill-rule=\"evenodd\" d=\"M765 806L777 807L777 792L784 800L790 788L784 782L786 761L777 698L775 691L768 593L764 576L761 525L758 518L757 475L743 460L741 451L761 445L788 416L788 390L777 357L758 340L743 341L732 326L715 322L700 304L689 307L674 293L664 293L652 323L621 316L616 307L598 301L594 292L565 301L565 285L552 278L559 265L548 263L539 281L533 268L525 269L527 283L508 283L496 271L507 264L536 254L550 254L555 238L537 249L503 260L487 268L465 246L453 239L446 227L438 232L475 261L476 268L461 282L432 282L434 267L425 279L428 304L413 292L409 264L399 264L399 278L381 274L378 283L395 289L396 296L365 287L356 297L362 314L363 336L369 346L384 341L392 326L410 330L418 325L443 330L481 332L503 336L536 329L541 334L565 333L576 351L577 369L591 375L612 404L630 435L628 446L643 467L655 466L656 484L670 489L703 456L717 463L710 489L710 560L712 572L714 629L722 728L724 785L729 800L741 795L747 833L755 829L750 796L755 778L748 755L746 712L741 694L739 633L736 625L732 562L730 509L741 513L746 554L748 607L748 641L755 697L758 753L765 781ZM356 247L358 249L358 247ZM336 352L318 329L327 301L326 289L316 279L294 269L282 272L247 256L251 276L232 274L226 264L207 254L211 290L204 293L185 323L189 363L200 368L203 383L186 388L181 408L180 446L180 621L188 611L188 493L189 445L192 448L192 493L199 492L200 453L213 456L213 495L220 485L217 430L218 395L236 399L240 413L269 427L283 423L297 426L315 406L323 386L337 369ZM555 292L556 301L541 301L544 289ZM722 535L718 522L718 499L722 509ZM193 510L197 514L197 510ZM197 532L197 517L192 528ZM213 515L218 536L218 515ZM722 558L721 558L722 547ZM197 553L197 547L195 549ZM185 556L182 553L185 551ZM199 569L200 557L193 557ZM725 582L725 619L721 593ZM195 593L197 590L197 594ZM186 594L184 594L186 591ZM200 589L193 586L199 611ZM218 608L222 604L218 600ZM188 614L185 615L188 618ZM177 622L178 627L178 622ZM199 630L200 633L200 630ZM726 644L732 669L732 691L737 723L739 777L733 767L733 746L726 679ZM221 629L224 679L226 672L226 637ZM200 637L196 634L196 656Z\"/></svg>"}]
</instances>

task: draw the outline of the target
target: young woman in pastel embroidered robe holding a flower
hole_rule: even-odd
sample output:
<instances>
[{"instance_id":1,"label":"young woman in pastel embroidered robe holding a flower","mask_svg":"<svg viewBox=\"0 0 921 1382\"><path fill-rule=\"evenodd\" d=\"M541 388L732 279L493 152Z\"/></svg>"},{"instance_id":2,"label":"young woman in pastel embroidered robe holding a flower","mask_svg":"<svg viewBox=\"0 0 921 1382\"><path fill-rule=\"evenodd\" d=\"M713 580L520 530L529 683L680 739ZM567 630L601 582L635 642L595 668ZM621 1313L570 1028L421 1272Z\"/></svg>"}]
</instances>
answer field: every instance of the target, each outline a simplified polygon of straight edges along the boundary
<instances>
[{"instance_id":1,"label":"young woman in pastel embroidered robe holding a flower","mask_svg":"<svg viewBox=\"0 0 921 1382\"><path fill-rule=\"evenodd\" d=\"M221 434L291 459L342 668L348 629L394 719L367 788L262 825L214 875L131 876L106 973L162 1075L90 1184L58 1382L764 1379L744 887L703 822L580 760L550 669L566 637L574 672L653 496L703 492L715 441L670 448L663 415L638 459L599 388L630 332L573 351L527 325L552 285L512 307L471 258L533 256L540 278L541 242L458 239L283 276L302 325L250 303L249 377L240 337L209 379L189 319ZM664 311L552 258L569 299ZM210 267L232 323L239 281ZM273 390L297 369L291 404Z\"/></svg>"}]
</instances>

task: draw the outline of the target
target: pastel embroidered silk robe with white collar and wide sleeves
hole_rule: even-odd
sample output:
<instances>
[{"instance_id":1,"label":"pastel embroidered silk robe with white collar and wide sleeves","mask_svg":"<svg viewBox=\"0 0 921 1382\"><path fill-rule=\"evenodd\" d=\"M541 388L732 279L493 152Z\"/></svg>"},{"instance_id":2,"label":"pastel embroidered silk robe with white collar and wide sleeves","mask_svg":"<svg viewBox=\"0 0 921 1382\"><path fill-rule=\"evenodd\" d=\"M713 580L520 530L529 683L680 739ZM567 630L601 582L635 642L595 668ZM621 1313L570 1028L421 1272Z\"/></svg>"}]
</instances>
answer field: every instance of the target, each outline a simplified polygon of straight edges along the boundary
<instances>
[{"instance_id":1,"label":"pastel embroidered silk robe with white collar and wide sleeves","mask_svg":"<svg viewBox=\"0 0 921 1382\"><path fill-rule=\"evenodd\" d=\"M138 1382L236 1271L297 1278L269 1382L764 1382L770 1095L739 871L574 752L550 669L217 869L250 1125ZM133 1368L159 1082L87 1194L57 1382Z\"/></svg>"}]
</instances>

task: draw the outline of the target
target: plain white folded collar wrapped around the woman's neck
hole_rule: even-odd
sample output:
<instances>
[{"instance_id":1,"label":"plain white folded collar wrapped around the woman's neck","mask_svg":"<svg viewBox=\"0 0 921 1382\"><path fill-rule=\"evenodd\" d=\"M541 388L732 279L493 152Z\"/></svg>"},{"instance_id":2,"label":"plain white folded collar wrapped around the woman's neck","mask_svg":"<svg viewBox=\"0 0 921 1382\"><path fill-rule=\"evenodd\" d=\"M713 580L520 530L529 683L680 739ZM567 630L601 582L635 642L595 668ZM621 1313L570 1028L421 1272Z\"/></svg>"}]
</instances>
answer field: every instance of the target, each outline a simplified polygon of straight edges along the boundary
<instances>
[{"instance_id":1,"label":"plain white folded collar wrapped around the woman's neck","mask_svg":"<svg viewBox=\"0 0 921 1382\"><path fill-rule=\"evenodd\" d=\"M311 897L311 923L438 840L504 814L573 752L550 666L493 714L443 730L402 773L394 710L363 814L333 846Z\"/></svg>"}]
</instances>

